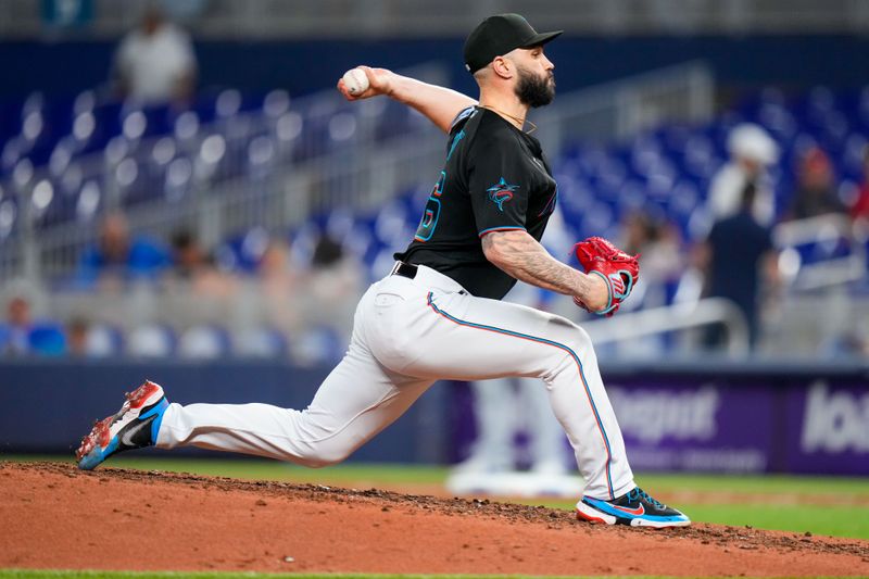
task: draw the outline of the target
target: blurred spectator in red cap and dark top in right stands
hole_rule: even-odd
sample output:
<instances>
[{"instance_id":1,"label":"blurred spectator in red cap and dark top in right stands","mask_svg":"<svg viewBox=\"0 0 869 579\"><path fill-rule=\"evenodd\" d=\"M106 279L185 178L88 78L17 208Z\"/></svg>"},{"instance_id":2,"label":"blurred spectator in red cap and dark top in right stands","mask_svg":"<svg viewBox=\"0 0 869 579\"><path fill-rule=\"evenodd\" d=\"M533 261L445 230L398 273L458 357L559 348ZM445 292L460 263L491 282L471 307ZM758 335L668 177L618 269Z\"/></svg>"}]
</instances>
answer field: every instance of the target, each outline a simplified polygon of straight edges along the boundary
<instances>
[{"instance_id":1,"label":"blurred spectator in red cap and dark top in right stands","mask_svg":"<svg viewBox=\"0 0 869 579\"><path fill-rule=\"evenodd\" d=\"M814 147L799 161L796 190L791 198L790 219L805 219L830 213L847 213L839 199L833 165L827 153Z\"/></svg>"}]
</instances>

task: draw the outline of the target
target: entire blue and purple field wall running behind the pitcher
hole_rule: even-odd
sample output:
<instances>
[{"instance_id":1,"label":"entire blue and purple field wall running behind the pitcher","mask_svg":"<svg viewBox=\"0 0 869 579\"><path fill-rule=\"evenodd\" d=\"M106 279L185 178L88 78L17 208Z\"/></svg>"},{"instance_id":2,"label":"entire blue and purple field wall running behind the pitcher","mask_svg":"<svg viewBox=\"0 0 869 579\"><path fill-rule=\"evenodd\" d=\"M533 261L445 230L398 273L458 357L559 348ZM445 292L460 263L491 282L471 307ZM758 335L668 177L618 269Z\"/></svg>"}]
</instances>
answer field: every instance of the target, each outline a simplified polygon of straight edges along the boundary
<instances>
[{"instance_id":1,"label":"entire blue and purple field wall running behind the pitcher","mask_svg":"<svg viewBox=\"0 0 869 579\"><path fill-rule=\"evenodd\" d=\"M301 408L328 372L232 361L5 362L0 454L72 452L144 377L184 404ZM604 364L603 372L637 470L869 476L869 363ZM473 416L464 385L439 383L351 460L454 462L474 439Z\"/></svg>"}]
</instances>

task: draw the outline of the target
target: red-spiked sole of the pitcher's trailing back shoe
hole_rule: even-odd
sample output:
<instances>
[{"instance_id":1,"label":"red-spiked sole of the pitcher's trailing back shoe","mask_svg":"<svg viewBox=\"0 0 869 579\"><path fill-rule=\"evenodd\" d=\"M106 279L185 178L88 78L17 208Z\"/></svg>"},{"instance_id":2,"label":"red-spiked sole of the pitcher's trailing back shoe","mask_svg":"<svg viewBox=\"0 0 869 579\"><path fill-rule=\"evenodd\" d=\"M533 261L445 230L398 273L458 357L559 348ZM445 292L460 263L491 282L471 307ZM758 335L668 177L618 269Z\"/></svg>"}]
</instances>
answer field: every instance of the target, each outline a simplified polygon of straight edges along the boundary
<instances>
[{"instance_id":1,"label":"red-spiked sole of the pitcher's trailing back shoe","mask_svg":"<svg viewBox=\"0 0 869 579\"><path fill-rule=\"evenodd\" d=\"M92 470L109 456L115 453L119 444L118 435L134 420L148 418L168 406L163 388L150 380L137 388L121 410L106 416L93 425L90 433L81 439L81 444L76 451L78 468ZM123 423L117 431L112 435L112 427Z\"/></svg>"}]
</instances>

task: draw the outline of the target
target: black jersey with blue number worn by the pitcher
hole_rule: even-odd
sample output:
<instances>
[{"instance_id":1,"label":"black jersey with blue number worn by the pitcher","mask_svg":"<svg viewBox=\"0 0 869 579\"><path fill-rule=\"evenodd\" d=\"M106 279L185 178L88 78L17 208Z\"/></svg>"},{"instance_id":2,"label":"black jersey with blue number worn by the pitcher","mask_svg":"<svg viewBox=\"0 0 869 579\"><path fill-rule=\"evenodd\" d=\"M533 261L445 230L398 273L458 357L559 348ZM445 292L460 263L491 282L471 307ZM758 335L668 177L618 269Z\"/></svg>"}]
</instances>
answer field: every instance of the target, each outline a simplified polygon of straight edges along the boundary
<instances>
[{"instance_id":1,"label":"black jersey with blue number worn by the pitcher","mask_svg":"<svg viewBox=\"0 0 869 579\"><path fill-rule=\"evenodd\" d=\"M516 280L486 259L480 239L522 229L540 241L557 188L540 142L474 106L450 129L446 163L414 240L395 259L427 265L473 295L500 300Z\"/></svg>"}]
</instances>

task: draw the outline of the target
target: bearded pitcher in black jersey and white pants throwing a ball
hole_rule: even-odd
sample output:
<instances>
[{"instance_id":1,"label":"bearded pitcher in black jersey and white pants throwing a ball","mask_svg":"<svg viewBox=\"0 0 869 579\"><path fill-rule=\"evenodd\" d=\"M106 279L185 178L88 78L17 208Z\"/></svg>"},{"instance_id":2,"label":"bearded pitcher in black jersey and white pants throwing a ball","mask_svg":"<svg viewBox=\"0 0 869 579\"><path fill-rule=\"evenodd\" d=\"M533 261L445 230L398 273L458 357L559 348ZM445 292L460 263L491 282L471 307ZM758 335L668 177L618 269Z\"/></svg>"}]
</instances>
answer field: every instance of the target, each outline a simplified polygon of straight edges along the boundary
<instances>
[{"instance_id":1,"label":"bearded pitcher in black jersey and white pants throwing a ball","mask_svg":"<svg viewBox=\"0 0 869 579\"><path fill-rule=\"evenodd\" d=\"M585 272L552 257L539 240L557 201L528 110L555 95L544 46L517 14L486 18L468 36L464 60L478 101L458 92L360 67L366 81L351 101L386 96L418 110L448 135L414 239L392 273L355 312L350 348L303 410L266 404L169 404L146 381L121 411L98 423L77 451L80 468L134 448L193 445L312 467L343 461L395 420L436 380L536 377L567 433L587 486L579 518L672 527L690 521L639 489L588 333L568 319L501 298L516 279L612 315L639 267L606 240L576 246ZM367 85L367 86L366 86Z\"/></svg>"}]
</instances>

